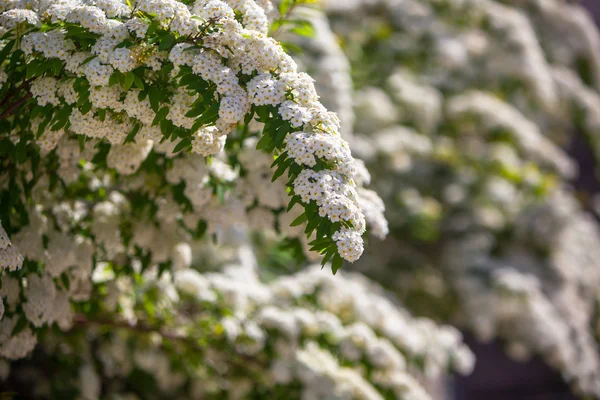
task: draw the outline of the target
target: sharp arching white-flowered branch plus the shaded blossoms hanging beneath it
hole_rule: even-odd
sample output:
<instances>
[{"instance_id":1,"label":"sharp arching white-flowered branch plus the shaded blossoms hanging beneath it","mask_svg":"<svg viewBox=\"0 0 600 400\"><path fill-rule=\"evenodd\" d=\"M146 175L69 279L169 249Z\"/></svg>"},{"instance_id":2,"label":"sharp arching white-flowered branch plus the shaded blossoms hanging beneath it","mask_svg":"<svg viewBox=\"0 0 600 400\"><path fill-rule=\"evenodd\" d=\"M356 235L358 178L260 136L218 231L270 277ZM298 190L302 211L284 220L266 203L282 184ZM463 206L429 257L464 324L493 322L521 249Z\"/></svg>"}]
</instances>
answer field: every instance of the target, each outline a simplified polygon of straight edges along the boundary
<instances>
[{"instance_id":1,"label":"sharp arching white-flowered branch plus the shaded blossoms hanging beneath it","mask_svg":"<svg viewBox=\"0 0 600 400\"><path fill-rule=\"evenodd\" d=\"M367 223L385 235L383 208L361 209L381 201L337 116L268 36L271 9L0 3L1 357L27 357L103 301L126 309L124 277L186 271L204 238L283 235L335 273L361 256ZM289 148L299 135L310 163ZM307 174L323 177L318 197Z\"/></svg>"}]
</instances>

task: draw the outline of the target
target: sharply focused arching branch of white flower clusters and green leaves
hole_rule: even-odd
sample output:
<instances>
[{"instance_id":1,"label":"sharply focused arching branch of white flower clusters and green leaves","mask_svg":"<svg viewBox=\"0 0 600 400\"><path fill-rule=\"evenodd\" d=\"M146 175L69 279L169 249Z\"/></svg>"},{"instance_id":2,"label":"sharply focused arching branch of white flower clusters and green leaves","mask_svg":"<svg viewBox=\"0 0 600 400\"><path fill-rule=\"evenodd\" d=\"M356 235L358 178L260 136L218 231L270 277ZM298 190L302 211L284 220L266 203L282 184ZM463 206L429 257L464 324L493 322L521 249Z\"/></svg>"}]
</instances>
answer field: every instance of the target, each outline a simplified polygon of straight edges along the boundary
<instances>
[{"instance_id":1,"label":"sharply focused arching branch of white flower clusters and green leaves","mask_svg":"<svg viewBox=\"0 0 600 400\"><path fill-rule=\"evenodd\" d=\"M276 154L273 180L288 172L289 208L305 210L294 224L307 222L307 235L316 234L313 250L334 272L360 257L365 218L339 120L267 36L254 1L1 7L5 164L30 161L37 175L38 146L42 159L53 157L61 140L76 137L87 162L134 174L153 147L214 156L238 124L256 118L264 124L257 148ZM0 218L9 233L18 229L6 211Z\"/></svg>"}]
</instances>

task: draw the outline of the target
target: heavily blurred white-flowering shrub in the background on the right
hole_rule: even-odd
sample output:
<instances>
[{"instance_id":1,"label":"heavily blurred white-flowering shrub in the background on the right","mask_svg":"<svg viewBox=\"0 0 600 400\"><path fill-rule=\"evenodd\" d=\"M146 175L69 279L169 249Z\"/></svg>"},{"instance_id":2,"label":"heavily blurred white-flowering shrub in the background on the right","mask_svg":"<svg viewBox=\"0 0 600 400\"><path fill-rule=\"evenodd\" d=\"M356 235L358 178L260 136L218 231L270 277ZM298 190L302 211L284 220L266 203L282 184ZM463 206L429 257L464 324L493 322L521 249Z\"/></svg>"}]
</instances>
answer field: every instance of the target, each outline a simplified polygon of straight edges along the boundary
<instances>
[{"instance_id":1,"label":"heavily blurred white-flowering shrub in the background on the right","mask_svg":"<svg viewBox=\"0 0 600 400\"><path fill-rule=\"evenodd\" d=\"M591 18L559 0L327 4L339 40L304 47L341 46L350 62L342 122L355 120L351 148L390 221L356 267L412 312L501 338L518 359L542 354L597 397L600 234L591 196L569 185L592 171L565 150L578 131L598 158ZM344 89L330 83L349 79L336 74L317 82L334 110Z\"/></svg>"}]
</instances>

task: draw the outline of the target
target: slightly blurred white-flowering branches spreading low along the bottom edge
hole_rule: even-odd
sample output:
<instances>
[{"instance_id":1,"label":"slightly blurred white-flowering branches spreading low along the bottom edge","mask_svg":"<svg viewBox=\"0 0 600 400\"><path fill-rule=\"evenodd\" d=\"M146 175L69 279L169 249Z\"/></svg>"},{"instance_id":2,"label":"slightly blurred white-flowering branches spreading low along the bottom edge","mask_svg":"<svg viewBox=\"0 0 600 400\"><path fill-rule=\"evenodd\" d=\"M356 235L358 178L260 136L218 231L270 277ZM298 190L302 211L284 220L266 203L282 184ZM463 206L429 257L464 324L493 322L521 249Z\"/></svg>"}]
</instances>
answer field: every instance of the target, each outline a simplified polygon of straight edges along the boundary
<instances>
[{"instance_id":1,"label":"slightly blurred white-flowering branches spreading low along the bottom edge","mask_svg":"<svg viewBox=\"0 0 600 400\"><path fill-rule=\"evenodd\" d=\"M97 268L99 308L47 332L40 367L3 365L4 377L53 398L429 399L422 382L472 368L456 330L360 276L315 266L264 283L246 247L218 273L138 267Z\"/></svg>"}]
</instances>

